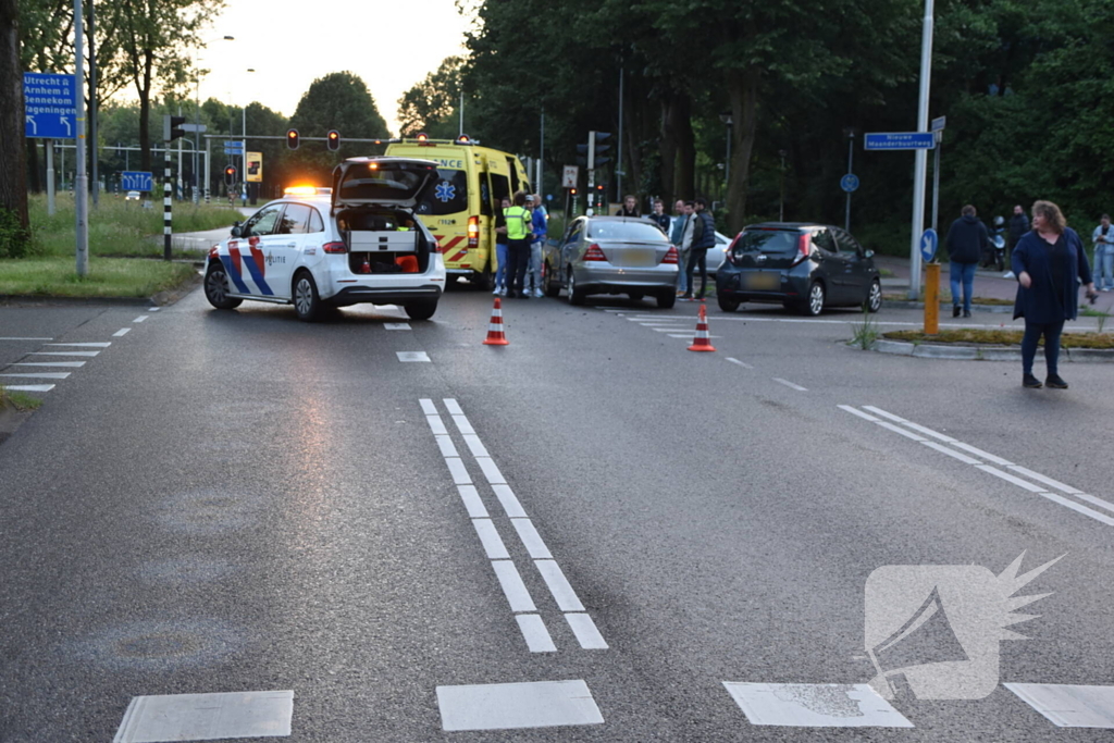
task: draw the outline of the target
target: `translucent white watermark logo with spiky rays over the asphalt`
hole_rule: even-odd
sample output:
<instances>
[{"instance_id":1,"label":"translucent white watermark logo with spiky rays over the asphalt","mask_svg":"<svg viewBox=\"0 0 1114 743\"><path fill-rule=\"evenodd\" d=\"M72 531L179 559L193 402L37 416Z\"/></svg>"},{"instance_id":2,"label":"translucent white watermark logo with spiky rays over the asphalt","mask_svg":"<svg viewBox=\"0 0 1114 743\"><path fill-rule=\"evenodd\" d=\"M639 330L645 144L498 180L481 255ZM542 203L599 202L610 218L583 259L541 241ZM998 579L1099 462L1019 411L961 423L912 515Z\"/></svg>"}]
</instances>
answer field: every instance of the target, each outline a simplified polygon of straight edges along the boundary
<instances>
[{"instance_id":1,"label":"translucent white watermark logo with spiky rays over the asphalt","mask_svg":"<svg viewBox=\"0 0 1114 743\"><path fill-rule=\"evenodd\" d=\"M981 700L998 686L998 643L1026 639L1007 627L1039 615L1015 609L1051 596L1014 596L1064 556L1023 575L1022 553L995 576L978 565L889 565L867 578L866 648L883 698Z\"/></svg>"}]
</instances>

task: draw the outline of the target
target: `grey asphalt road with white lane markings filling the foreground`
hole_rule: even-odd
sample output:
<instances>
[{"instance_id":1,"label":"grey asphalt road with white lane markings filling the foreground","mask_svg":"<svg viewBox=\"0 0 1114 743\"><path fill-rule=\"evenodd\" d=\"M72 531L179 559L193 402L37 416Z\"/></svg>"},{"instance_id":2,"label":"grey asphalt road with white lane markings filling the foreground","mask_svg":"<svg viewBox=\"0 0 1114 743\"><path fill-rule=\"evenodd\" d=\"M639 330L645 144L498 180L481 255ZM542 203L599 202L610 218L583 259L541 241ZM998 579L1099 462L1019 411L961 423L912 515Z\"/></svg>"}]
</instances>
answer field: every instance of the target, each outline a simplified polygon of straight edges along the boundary
<instances>
[{"instance_id":1,"label":"grey asphalt road with white lane markings filling the foreground","mask_svg":"<svg viewBox=\"0 0 1114 743\"><path fill-rule=\"evenodd\" d=\"M1027 391L780 307L711 310L692 353L695 305L625 300L507 301L491 348L490 310L0 307L28 339L0 373L69 374L0 378L55 384L0 446L0 740L179 740L125 730L133 700L280 691L296 741L1111 740L1005 686L1114 684L1111 366ZM50 345L82 343L110 345ZM42 360L84 365L10 365ZM1064 557L998 643L1018 586L970 566L1023 553ZM932 656L949 617L985 693L822 686L870 682L864 623L911 613L886 566L968 566L910 634Z\"/></svg>"}]
</instances>

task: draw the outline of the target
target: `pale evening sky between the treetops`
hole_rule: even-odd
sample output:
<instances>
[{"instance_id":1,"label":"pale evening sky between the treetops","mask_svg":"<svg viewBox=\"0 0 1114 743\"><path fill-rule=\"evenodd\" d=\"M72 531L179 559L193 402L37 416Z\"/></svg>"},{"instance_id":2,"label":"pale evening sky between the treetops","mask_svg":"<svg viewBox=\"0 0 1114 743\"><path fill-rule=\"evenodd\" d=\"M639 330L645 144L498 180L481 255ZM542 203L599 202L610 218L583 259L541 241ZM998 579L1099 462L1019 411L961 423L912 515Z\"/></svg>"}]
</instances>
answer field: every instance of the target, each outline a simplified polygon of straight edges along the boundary
<instances>
[{"instance_id":1,"label":"pale evening sky between the treetops","mask_svg":"<svg viewBox=\"0 0 1114 743\"><path fill-rule=\"evenodd\" d=\"M399 98L446 57L465 52L468 26L453 0L228 0L202 35L214 40L199 52L199 66L211 70L201 99L257 100L289 117L315 79L348 70L368 85L397 135Z\"/></svg>"}]
</instances>

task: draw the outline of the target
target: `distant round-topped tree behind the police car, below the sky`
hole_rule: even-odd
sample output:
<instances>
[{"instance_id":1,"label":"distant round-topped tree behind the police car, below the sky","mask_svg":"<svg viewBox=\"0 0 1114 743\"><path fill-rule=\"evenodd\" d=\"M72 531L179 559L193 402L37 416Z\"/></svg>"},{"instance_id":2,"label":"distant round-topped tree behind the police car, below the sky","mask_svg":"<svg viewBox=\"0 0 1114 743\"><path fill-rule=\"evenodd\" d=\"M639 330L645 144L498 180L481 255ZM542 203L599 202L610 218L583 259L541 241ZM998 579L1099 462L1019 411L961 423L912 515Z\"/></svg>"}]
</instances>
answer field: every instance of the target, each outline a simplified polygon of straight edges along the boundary
<instances>
[{"instance_id":1,"label":"distant round-topped tree behind the police car, below the sky","mask_svg":"<svg viewBox=\"0 0 1114 743\"><path fill-rule=\"evenodd\" d=\"M368 86L352 72L331 72L313 81L299 101L290 125L303 137L324 137L330 129L341 134L339 151L324 143L303 141L293 153L292 175L324 185L341 159L367 155L371 147L348 139L387 139L387 121L375 107Z\"/></svg>"}]
</instances>

